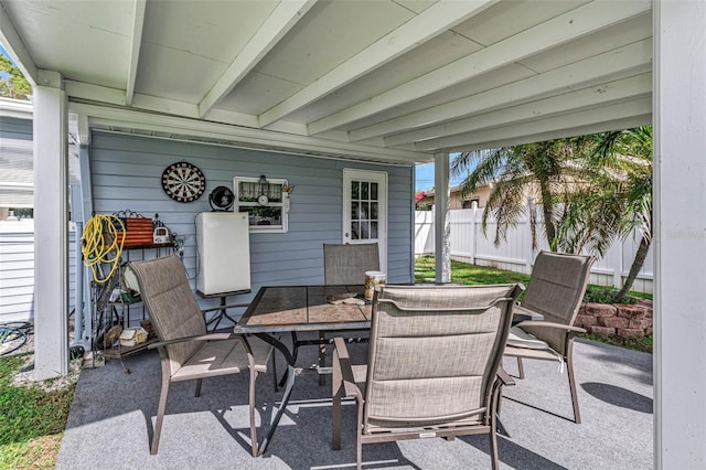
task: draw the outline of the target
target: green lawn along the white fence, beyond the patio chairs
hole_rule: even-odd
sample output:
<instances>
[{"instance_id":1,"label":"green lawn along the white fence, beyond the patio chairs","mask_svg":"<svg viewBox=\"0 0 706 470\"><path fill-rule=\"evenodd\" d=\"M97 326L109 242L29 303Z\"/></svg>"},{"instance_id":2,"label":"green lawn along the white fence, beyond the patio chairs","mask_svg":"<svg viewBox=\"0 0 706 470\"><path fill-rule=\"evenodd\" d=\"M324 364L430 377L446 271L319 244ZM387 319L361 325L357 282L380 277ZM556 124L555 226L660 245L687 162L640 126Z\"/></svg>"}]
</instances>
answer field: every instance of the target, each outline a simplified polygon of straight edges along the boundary
<instances>
[{"instance_id":1,"label":"green lawn along the white fence, beyond the patio chairs","mask_svg":"<svg viewBox=\"0 0 706 470\"><path fill-rule=\"evenodd\" d=\"M434 279L434 277L435 258L432 256L417 258L415 261L415 282L429 282ZM523 285L527 286L528 281L530 275L451 260L451 282L469 286L479 284L489 285L522 282ZM591 292L587 295L587 301L595 301L596 298L602 298L600 301L605 301L605 299L608 298L608 293L612 291L612 289L602 286L589 286L589 289L591 290ZM650 293L630 292L630 295L634 298L652 300L652 295ZM646 338L630 339L620 337L607 337L601 334L579 334L579 337L635 351L649 353L652 352L652 335Z\"/></svg>"}]
</instances>

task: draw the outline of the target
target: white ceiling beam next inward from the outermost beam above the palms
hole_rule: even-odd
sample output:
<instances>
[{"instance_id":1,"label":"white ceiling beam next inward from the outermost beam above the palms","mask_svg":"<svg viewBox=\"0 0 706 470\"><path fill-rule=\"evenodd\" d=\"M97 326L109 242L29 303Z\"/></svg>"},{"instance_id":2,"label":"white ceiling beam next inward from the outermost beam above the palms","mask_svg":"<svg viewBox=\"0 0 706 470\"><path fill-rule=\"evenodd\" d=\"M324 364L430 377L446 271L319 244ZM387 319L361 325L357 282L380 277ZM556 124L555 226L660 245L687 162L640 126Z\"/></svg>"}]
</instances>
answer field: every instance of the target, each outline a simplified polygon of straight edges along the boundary
<instances>
[{"instance_id":1,"label":"white ceiling beam next inward from the outermost beam above the palms","mask_svg":"<svg viewBox=\"0 0 706 470\"><path fill-rule=\"evenodd\" d=\"M385 138L386 147L400 143L420 142L442 136L466 133L495 126L506 126L532 119L566 114L589 107L606 106L616 102L624 102L652 93L652 74L646 73L614 82L603 83L578 92L565 93L549 98L538 99L524 105L502 108L490 113L452 120L424 129L402 132Z\"/></svg>"}]
</instances>

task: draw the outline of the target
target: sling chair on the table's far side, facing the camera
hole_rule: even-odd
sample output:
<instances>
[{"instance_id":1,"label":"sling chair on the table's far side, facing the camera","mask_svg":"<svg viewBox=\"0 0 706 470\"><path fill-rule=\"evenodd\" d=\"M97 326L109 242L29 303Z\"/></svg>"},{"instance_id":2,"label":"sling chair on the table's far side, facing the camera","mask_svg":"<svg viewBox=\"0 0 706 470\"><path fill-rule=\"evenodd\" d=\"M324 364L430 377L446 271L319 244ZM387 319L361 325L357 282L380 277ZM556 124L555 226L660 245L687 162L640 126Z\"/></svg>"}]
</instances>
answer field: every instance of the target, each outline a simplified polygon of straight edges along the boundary
<instances>
[{"instance_id":1,"label":"sling chair on the table's far side, facing the camera","mask_svg":"<svg viewBox=\"0 0 706 470\"><path fill-rule=\"evenodd\" d=\"M379 250L376 243L323 244L323 278L327 286L356 286L365 281L365 271L379 270ZM359 339L360 340L360 339ZM295 357L302 345L319 345L319 367L325 366L327 331L319 331L317 340L299 340L292 332ZM319 375L319 384L324 384L324 375Z\"/></svg>"}]
</instances>

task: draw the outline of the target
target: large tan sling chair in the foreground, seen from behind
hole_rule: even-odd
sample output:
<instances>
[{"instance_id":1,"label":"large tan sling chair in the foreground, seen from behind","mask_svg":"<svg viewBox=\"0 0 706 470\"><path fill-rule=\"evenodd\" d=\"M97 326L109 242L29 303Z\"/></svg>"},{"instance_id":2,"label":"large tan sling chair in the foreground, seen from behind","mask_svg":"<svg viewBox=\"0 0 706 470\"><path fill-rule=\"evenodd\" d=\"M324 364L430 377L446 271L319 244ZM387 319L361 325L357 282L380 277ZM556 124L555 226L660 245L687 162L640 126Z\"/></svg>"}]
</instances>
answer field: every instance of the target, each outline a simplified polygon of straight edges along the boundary
<instances>
[{"instance_id":1,"label":"large tan sling chair in the foreground, seen from behind","mask_svg":"<svg viewBox=\"0 0 706 470\"><path fill-rule=\"evenodd\" d=\"M332 448L341 400L357 404L364 444L488 434L498 468L496 403L512 380L500 368L520 285L384 286L375 293L367 365L334 339Z\"/></svg>"}]
</instances>

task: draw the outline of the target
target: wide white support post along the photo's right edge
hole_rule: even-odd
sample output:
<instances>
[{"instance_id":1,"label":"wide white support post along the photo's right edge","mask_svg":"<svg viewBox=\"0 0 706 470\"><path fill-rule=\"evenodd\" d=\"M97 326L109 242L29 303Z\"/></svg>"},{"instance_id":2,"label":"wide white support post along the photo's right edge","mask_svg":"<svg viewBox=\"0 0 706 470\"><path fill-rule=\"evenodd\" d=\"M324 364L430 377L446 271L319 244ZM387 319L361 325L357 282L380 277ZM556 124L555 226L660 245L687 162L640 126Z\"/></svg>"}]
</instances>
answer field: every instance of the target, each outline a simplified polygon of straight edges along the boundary
<instances>
[{"instance_id":1,"label":"wide white support post along the photo's right edge","mask_svg":"<svg viewBox=\"0 0 706 470\"><path fill-rule=\"evenodd\" d=\"M655 1L654 467L706 468L706 3Z\"/></svg>"}]
</instances>

